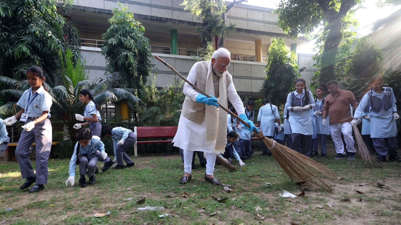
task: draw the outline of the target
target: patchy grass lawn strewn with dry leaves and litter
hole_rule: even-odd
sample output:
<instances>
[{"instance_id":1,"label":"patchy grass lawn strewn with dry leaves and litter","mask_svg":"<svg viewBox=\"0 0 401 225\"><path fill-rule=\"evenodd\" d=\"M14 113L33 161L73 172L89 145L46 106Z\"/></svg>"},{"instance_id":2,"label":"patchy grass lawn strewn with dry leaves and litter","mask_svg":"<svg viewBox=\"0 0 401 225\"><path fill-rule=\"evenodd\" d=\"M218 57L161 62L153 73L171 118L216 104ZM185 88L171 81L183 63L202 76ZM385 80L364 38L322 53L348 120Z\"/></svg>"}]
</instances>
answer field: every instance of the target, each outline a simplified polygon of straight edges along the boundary
<instances>
[{"instance_id":1,"label":"patchy grass lawn strewn with dry leaves and litter","mask_svg":"<svg viewBox=\"0 0 401 225\"><path fill-rule=\"evenodd\" d=\"M100 172L97 183L85 188L78 185L78 168L75 186L65 187L69 160L50 160L46 189L33 194L19 189L24 180L16 162L0 163L0 224L400 224L400 163L372 169L359 156L333 160L335 152L329 149L327 159L315 158L338 177L328 181L334 189L328 192L296 185L272 157L260 153L245 161L245 169L233 160L239 168L235 172L216 166L215 176L231 185L230 193L205 182L201 167L192 171L192 181L179 185L179 155L135 158L135 167ZM282 190L305 195L282 198ZM137 204L144 196L146 201ZM137 209L145 206L165 209ZM108 211L109 216L94 217ZM170 217L160 218L162 214Z\"/></svg>"}]
</instances>

